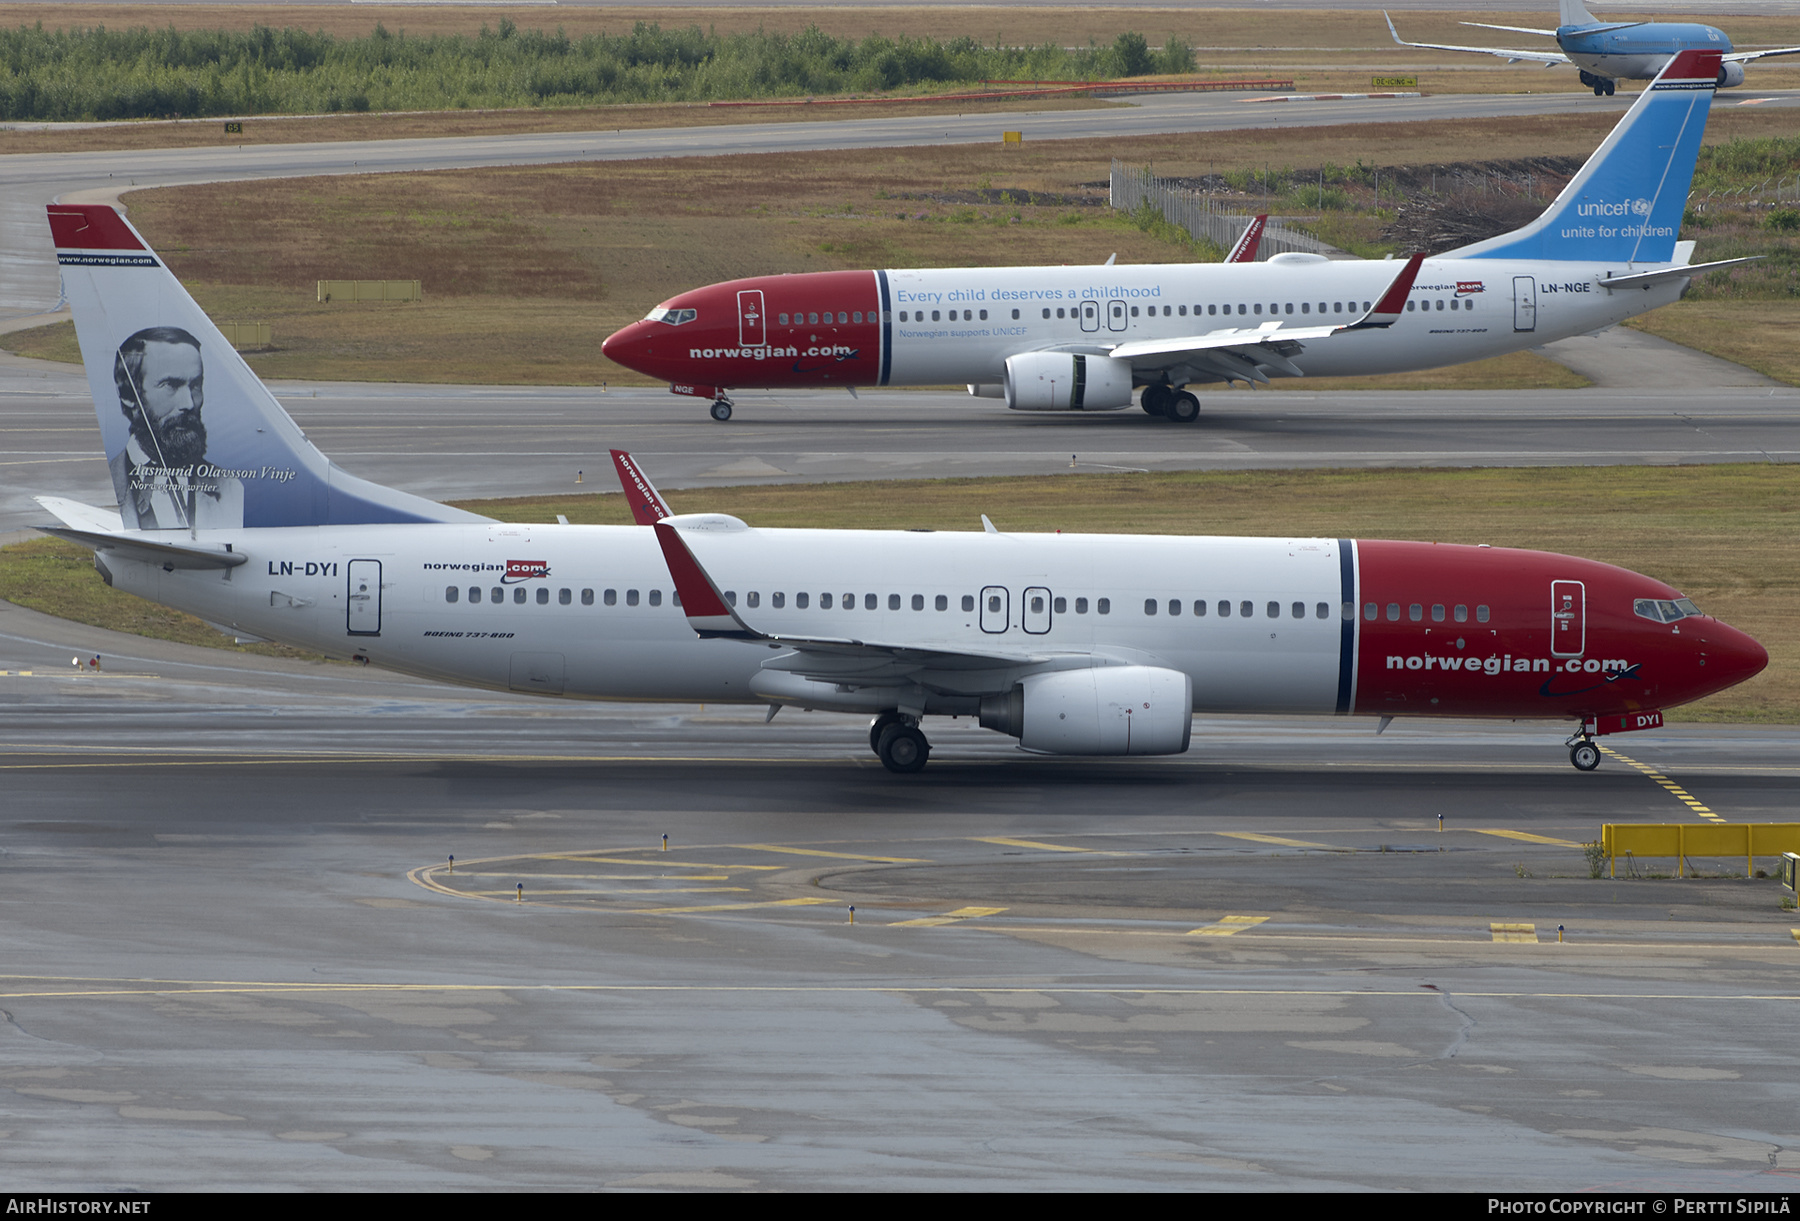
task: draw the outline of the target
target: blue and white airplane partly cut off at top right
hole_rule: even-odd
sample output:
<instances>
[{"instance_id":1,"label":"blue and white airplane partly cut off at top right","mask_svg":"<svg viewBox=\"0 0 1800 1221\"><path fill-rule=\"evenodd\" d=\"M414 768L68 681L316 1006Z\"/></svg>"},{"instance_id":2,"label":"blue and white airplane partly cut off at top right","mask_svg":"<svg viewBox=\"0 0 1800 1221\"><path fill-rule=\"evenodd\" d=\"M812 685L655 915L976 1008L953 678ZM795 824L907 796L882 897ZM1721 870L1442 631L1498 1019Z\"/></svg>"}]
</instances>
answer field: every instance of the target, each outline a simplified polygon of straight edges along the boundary
<instances>
[{"instance_id":1,"label":"blue and white airplane partly cut off at top right","mask_svg":"<svg viewBox=\"0 0 1800 1221\"><path fill-rule=\"evenodd\" d=\"M1487 22L1463 22L1480 29L1501 29L1512 34L1541 34L1555 38L1561 50L1516 50L1508 47L1453 47L1445 43L1409 43L1393 29L1388 18L1388 32L1402 47L1422 47L1426 50L1467 50L1481 56L1499 56L1507 63L1541 63L1546 68L1559 63L1573 63L1580 68L1580 83L1593 88L1595 97L1609 97L1618 81L1652 81L1681 50L1717 50L1719 52L1719 88L1744 83L1744 65L1768 56L1796 56L1800 47L1777 47L1773 50L1732 50L1732 40L1724 31L1692 22L1602 22L1580 0L1559 0L1561 22L1555 29L1530 29L1525 25L1489 25Z\"/></svg>"}]
</instances>

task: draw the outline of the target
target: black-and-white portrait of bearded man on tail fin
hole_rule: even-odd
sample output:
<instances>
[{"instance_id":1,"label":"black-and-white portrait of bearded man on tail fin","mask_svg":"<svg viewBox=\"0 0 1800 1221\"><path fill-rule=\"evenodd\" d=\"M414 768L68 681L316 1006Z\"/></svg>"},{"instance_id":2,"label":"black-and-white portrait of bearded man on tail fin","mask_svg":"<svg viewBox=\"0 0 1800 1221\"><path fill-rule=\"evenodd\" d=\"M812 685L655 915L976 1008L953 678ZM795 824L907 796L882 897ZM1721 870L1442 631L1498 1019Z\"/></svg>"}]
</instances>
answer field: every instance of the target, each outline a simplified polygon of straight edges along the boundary
<instances>
[{"instance_id":1,"label":"black-and-white portrait of bearded man on tail fin","mask_svg":"<svg viewBox=\"0 0 1800 1221\"><path fill-rule=\"evenodd\" d=\"M113 385L131 425L106 463L126 529L241 528L243 481L207 463L200 340L178 326L144 328L119 344Z\"/></svg>"}]
</instances>

